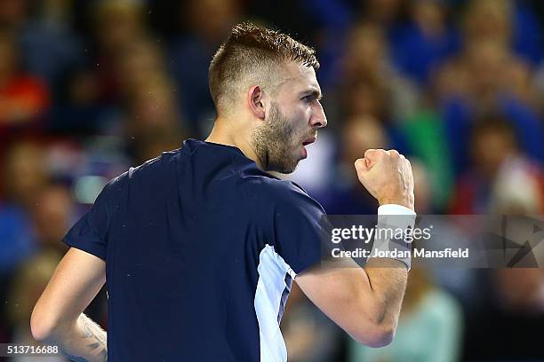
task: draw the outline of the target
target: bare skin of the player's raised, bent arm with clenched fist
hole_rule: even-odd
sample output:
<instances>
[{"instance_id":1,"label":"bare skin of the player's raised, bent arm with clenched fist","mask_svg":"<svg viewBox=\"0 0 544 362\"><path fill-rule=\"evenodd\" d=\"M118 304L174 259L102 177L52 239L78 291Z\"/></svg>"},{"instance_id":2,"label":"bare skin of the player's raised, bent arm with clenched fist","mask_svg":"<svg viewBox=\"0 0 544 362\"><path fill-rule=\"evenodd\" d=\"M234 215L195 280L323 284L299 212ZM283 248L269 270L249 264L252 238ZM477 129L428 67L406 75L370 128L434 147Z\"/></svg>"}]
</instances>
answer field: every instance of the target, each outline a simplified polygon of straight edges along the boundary
<instances>
[{"instance_id":1,"label":"bare skin of the player's raised, bent arm with clenched fist","mask_svg":"<svg viewBox=\"0 0 544 362\"><path fill-rule=\"evenodd\" d=\"M356 161L364 187L381 205L413 210L410 162L396 151L368 150ZM353 262L353 261L351 261ZM295 281L304 294L356 341L382 347L393 340L408 271L396 259L372 258L364 269L342 267L303 271Z\"/></svg>"}]
</instances>

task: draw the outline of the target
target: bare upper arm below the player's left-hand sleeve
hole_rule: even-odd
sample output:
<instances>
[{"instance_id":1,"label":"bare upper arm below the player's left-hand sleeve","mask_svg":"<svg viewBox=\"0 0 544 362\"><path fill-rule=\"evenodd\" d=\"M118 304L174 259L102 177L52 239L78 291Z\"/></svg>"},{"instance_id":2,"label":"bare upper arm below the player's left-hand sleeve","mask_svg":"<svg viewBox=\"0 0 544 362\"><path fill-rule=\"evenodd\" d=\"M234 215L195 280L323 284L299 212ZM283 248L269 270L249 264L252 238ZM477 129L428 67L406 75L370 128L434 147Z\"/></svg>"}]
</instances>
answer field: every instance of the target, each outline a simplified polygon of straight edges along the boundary
<instances>
[{"instance_id":1,"label":"bare upper arm below the player's left-hand sleeve","mask_svg":"<svg viewBox=\"0 0 544 362\"><path fill-rule=\"evenodd\" d=\"M106 263L97 256L70 248L62 258L33 314L60 323L76 320L106 282Z\"/></svg>"}]
</instances>

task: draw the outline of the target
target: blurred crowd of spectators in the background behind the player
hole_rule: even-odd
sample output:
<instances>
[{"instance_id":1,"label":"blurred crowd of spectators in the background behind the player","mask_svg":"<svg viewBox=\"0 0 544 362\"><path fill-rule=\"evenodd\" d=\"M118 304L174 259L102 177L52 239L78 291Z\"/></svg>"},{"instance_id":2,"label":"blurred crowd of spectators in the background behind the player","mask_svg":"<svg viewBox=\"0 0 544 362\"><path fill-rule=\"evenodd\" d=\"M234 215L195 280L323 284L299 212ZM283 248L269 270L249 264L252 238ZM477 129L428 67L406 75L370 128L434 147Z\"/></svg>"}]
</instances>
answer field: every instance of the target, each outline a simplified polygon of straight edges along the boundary
<instances>
[{"instance_id":1,"label":"blurred crowd of spectators in the background behind the player","mask_svg":"<svg viewBox=\"0 0 544 362\"><path fill-rule=\"evenodd\" d=\"M328 213L375 213L368 148L412 160L419 214L543 213L537 0L1 0L0 342L32 343L60 239L110 178L205 138L208 65L243 20L316 48L329 126L290 177ZM104 291L87 312L107 327ZM282 328L293 362L544 360L544 271L413 269L379 350L296 287Z\"/></svg>"}]
</instances>

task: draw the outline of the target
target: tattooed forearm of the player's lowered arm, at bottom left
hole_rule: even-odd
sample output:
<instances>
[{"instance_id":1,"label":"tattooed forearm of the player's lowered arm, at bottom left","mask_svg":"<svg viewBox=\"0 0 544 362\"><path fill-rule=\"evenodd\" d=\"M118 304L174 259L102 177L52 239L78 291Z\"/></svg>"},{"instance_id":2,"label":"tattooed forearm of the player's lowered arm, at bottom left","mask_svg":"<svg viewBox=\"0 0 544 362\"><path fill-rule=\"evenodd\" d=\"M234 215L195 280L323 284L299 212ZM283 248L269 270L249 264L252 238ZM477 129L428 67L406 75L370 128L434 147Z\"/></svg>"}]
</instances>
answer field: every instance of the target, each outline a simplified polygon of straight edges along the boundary
<instances>
[{"instance_id":1,"label":"tattooed forearm of the player's lowered arm, at bottom left","mask_svg":"<svg viewBox=\"0 0 544 362\"><path fill-rule=\"evenodd\" d=\"M83 313L70 326L59 327L45 340L58 345L62 354L76 362L103 362L108 360L107 334Z\"/></svg>"}]
</instances>

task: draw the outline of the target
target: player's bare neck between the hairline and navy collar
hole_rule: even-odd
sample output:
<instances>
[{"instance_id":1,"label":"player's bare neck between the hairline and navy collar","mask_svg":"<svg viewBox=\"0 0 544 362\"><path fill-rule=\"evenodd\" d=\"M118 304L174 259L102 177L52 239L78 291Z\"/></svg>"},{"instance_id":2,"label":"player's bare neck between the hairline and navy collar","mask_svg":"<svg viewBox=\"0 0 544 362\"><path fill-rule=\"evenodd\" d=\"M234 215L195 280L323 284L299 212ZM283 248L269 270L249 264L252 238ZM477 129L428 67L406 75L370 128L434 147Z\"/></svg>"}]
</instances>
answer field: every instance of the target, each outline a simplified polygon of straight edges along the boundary
<instances>
[{"instance_id":1,"label":"player's bare neck between the hairline and navy collar","mask_svg":"<svg viewBox=\"0 0 544 362\"><path fill-rule=\"evenodd\" d=\"M220 145L235 146L248 159L255 161L257 167L262 169L257 153L252 146L252 128L243 122L236 122L222 117L218 117L213 124L213 129L206 142L213 142Z\"/></svg>"}]
</instances>

